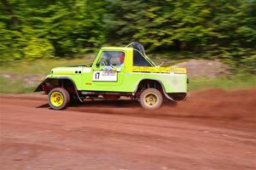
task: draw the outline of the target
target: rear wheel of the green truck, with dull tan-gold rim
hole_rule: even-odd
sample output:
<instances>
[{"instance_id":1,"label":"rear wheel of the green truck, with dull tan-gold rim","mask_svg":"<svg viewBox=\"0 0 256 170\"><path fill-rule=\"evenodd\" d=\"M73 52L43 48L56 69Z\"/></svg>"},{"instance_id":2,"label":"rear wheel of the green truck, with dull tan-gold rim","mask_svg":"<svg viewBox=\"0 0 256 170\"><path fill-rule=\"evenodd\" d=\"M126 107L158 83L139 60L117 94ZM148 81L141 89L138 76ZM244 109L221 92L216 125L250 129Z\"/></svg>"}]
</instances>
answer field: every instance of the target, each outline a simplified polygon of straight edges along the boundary
<instances>
[{"instance_id":1,"label":"rear wheel of the green truck, with dull tan-gold rim","mask_svg":"<svg viewBox=\"0 0 256 170\"><path fill-rule=\"evenodd\" d=\"M148 88L141 94L140 103L145 109L156 110L163 104L163 96L159 90Z\"/></svg>"}]
</instances>

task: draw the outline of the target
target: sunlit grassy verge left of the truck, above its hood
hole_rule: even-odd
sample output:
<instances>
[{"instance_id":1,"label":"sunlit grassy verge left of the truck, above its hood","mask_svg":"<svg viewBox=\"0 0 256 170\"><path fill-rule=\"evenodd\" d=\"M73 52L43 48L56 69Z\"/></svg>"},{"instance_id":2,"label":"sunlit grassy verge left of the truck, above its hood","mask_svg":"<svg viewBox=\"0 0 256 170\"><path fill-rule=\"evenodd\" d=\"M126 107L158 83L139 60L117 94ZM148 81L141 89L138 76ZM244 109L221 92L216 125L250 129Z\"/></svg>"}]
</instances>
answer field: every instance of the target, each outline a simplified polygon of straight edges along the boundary
<instances>
[{"instance_id":1,"label":"sunlit grassy verge left of the truck, above its hood","mask_svg":"<svg viewBox=\"0 0 256 170\"><path fill-rule=\"evenodd\" d=\"M0 93L22 94L31 93L40 79L49 74L57 66L90 65L95 55L90 54L84 59L44 59L35 61L17 61L0 66ZM29 81L37 77L39 81Z\"/></svg>"}]
</instances>

